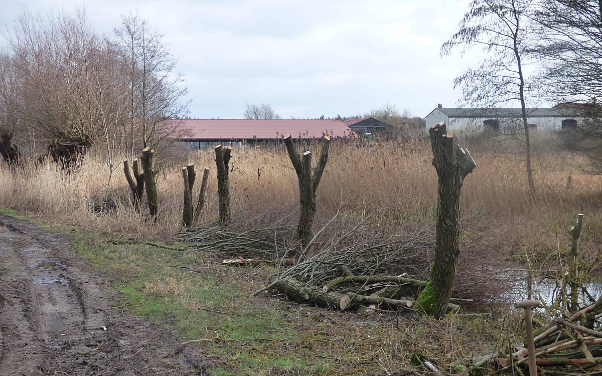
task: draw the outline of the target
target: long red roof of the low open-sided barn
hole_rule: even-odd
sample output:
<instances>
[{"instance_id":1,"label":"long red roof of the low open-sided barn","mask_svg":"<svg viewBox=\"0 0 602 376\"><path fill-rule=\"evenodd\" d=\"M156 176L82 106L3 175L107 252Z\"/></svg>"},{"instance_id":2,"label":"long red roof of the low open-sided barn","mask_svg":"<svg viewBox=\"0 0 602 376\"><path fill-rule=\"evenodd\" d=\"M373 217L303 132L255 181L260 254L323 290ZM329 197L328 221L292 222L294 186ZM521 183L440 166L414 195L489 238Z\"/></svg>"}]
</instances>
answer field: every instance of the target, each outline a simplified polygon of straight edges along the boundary
<instances>
[{"instance_id":1,"label":"long red roof of the low open-sided barn","mask_svg":"<svg viewBox=\"0 0 602 376\"><path fill-rule=\"evenodd\" d=\"M341 120L248 120L248 119L184 119L185 138L194 140L243 140L251 138L356 137Z\"/></svg>"}]
</instances>

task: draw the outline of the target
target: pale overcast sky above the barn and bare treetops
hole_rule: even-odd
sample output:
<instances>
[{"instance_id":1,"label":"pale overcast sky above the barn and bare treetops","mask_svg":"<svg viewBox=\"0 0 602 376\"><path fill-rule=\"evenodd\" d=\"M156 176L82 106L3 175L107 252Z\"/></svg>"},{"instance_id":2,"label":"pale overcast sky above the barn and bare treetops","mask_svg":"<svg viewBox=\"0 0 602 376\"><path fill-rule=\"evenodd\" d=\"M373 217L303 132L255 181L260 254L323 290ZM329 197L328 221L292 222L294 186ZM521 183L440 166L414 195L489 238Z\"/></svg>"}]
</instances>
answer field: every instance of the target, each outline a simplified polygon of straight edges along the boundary
<instances>
[{"instance_id":1,"label":"pale overcast sky above the barn and bare treetops","mask_svg":"<svg viewBox=\"0 0 602 376\"><path fill-rule=\"evenodd\" d=\"M240 118L246 103L288 117L363 114L385 103L426 116L457 104L453 79L475 62L441 58L467 0L0 0L0 22L85 8L110 34L120 14L165 35L185 77L190 116Z\"/></svg>"}]
</instances>

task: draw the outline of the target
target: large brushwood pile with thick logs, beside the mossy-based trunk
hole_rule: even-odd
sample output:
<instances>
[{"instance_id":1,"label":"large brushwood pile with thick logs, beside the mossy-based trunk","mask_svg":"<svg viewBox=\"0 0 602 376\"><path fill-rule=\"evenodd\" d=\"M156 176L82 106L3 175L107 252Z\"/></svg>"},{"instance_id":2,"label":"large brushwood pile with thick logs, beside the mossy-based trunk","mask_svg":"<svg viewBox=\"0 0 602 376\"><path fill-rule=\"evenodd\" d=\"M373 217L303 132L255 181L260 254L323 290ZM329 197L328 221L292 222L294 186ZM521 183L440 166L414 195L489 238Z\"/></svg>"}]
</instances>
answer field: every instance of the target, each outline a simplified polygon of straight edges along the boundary
<instances>
[{"instance_id":1,"label":"large brushwood pile with thick logs, beside the mossy-based trunk","mask_svg":"<svg viewBox=\"0 0 602 376\"><path fill-rule=\"evenodd\" d=\"M432 248L432 233L425 228L381 235L367 227L362 221L319 242L318 233L296 265L272 276L273 282L253 295L273 288L289 300L320 307L344 310L364 304L411 309L411 297L426 282L408 275L424 275L428 270L429 257L424 255Z\"/></svg>"}]
</instances>

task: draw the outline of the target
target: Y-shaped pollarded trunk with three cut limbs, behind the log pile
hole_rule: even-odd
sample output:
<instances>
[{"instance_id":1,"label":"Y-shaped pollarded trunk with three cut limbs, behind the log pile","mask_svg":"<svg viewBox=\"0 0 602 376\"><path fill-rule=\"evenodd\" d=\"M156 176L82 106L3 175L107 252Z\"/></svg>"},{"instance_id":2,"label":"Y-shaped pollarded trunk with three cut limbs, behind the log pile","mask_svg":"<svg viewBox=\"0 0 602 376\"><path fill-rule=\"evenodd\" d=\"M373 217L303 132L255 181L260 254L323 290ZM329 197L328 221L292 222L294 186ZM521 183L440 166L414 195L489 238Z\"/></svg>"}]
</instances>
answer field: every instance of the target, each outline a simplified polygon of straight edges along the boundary
<instances>
[{"instance_id":1,"label":"Y-shaped pollarded trunk with three cut limbs, behind the log pile","mask_svg":"<svg viewBox=\"0 0 602 376\"><path fill-rule=\"evenodd\" d=\"M301 158L293 145L291 135L284 137L284 144L287 147L288 157L293 163L297 180L299 180L299 203L300 214L299 224L297 224L297 239L303 246L308 244L311 239L311 228L314 223L315 215L315 192L320 185L320 179L324 173L326 162L328 160L328 149L330 146L330 138L324 136L321 140L320 159L313 171L311 170L311 151L303 152Z\"/></svg>"}]
</instances>

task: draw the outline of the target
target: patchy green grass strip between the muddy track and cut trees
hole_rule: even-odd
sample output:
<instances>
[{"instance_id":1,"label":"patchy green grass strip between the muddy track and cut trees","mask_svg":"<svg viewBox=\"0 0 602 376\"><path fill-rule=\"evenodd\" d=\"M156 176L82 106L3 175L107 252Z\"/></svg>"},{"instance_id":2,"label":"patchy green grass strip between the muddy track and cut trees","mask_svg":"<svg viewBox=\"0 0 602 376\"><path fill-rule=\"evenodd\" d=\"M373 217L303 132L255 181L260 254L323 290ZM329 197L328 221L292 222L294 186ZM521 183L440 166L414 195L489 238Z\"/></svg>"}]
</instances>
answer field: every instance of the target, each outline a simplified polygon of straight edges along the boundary
<instances>
[{"instance_id":1,"label":"patchy green grass strip between the muddy track and cut trees","mask_svg":"<svg viewBox=\"0 0 602 376\"><path fill-rule=\"evenodd\" d=\"M202 252L155 247L114 233L44 227L69 233L73 247L123 294L117 304L173 330L182 342L207 339L187 346L211 359L211 375L386 374L383 367L411 370L411 353L444 367L489 351L501 331L500 321L482 318L370 316L250 298L273 270L223 267L221 259Z\"/></svg>"}]
</instances>

